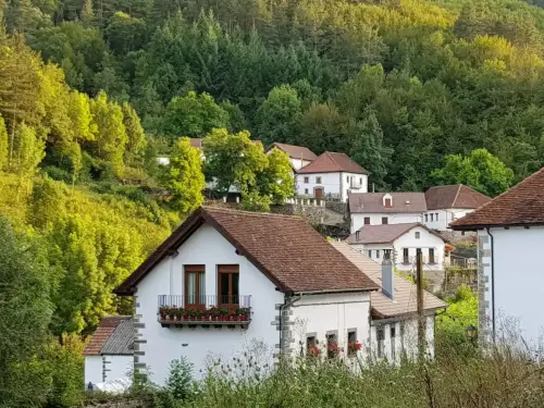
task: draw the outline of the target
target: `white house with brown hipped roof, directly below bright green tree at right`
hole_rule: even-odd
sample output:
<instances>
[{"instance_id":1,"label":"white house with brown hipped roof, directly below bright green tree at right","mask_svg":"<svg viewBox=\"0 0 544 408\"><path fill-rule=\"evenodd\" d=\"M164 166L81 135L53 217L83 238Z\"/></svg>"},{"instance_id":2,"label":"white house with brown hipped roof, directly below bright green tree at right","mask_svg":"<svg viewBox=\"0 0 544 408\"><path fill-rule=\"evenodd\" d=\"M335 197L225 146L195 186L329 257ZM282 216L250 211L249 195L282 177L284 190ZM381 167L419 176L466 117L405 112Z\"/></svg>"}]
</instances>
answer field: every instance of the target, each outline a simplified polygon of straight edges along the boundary
<instances>
[{"instance_id":1,"label":"white house with brown hipped roof, directly below bright green tree at right","mask_svg":"<svg viewBox=\"0 0 544 408\"><path fill-rule=\"evenodd\" d=\"M423 223L437 231L449 230L449 224L477 208L491 201L491 198L462 184L435 186L425 191L426 211Z\"/></svg>"}]
</instances>

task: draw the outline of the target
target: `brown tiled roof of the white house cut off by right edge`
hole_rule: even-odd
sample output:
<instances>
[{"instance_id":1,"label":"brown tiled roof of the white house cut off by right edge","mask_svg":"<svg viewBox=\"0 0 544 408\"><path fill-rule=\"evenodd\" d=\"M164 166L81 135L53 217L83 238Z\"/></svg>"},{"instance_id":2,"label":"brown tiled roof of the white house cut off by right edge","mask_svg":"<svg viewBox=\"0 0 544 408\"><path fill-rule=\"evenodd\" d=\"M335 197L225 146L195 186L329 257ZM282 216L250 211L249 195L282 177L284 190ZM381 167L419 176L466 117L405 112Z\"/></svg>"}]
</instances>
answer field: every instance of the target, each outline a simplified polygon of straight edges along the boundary
<instances>
[{"instance_id":1,"label":"brown tiled roof of the white house cut off by right edge","mask_svg":"<svg viewBox=\"0 0 544 408\"><path fill-rule=\"evenodd\" d=\"M450 224L453 230L544 225L544 168Z\"/></svg>"}]
</instances>

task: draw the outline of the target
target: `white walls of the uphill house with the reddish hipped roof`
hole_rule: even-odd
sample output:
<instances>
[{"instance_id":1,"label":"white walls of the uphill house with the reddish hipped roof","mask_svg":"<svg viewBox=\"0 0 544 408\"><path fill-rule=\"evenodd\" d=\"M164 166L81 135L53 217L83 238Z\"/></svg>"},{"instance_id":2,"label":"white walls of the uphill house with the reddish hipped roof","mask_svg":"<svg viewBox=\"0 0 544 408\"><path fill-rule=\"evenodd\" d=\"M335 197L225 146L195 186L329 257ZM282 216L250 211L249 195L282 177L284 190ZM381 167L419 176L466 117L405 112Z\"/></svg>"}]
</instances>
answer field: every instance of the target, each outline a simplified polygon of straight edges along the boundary
<instances>
[{"instance_id":1,"label":"white walls of the uphill house with the reddish hipped roof","mask_svg":"<svg viewBox=\"0 0 544 408\"><path fill-rule=\"evenodd\" d=\"M308 177L308 183L305 183L305 177ZM317 183L317 178L321 177L321 183ZM355 178L356 185L359 188L351 188L351 183L347 182L347 177ZM297 196L316 197L314 189L322 187L323 196L332 195L339 198L342 202L347 201L348 191L367 193L368 176L366 174L353 173L313 173L313 174L297 174L295 181ZM307 193L308 191L308 193Z\"/></svg>"}]
</instances>

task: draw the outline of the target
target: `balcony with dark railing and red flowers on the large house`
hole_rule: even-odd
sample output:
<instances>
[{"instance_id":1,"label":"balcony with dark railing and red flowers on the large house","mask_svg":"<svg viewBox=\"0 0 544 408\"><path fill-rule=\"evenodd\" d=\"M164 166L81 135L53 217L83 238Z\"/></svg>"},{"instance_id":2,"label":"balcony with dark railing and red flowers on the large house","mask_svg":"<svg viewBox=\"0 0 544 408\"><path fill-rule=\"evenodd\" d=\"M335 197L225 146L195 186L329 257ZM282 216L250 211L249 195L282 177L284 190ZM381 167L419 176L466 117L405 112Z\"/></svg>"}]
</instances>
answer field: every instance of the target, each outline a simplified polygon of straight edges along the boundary
<instances>
[{"instance_id":1,"label":"balcony with dark railing and red flowers on the large house","mask_svg":"<svg viewBox=\"0 0 544 408\"><path fill-rule=\"evenodd\" d=\"M158 321L163 327L242 327L251 322L251 296L159 295Z\"/></svg>"}]
</instances>

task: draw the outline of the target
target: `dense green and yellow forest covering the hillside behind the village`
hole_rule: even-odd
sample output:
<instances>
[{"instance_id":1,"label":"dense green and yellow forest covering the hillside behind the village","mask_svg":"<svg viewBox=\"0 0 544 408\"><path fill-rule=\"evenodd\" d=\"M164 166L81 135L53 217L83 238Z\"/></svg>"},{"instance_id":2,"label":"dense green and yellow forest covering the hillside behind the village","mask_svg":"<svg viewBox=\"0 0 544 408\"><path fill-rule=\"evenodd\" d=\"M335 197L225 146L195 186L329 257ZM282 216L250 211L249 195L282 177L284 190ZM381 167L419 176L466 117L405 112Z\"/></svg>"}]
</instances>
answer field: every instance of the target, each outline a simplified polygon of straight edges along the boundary
<instances>
[{"instance_id":1,"label":"dense green and yellow forest covering the hillside behind the village","mask_svg":"<svg viewBox=\"0 0 544 408\"><path fill-rule=\"evenodd\" d=\"M249 208L290 194L249 137L346 152L378 189L496 195L542 166L543 4L0 0L0 400L77 399L79 336L131 310L112 288L201 202L202 170ZM207 135L201 169L181 137Z\"/></svg>"}]
</instances>

